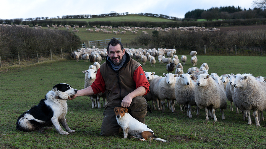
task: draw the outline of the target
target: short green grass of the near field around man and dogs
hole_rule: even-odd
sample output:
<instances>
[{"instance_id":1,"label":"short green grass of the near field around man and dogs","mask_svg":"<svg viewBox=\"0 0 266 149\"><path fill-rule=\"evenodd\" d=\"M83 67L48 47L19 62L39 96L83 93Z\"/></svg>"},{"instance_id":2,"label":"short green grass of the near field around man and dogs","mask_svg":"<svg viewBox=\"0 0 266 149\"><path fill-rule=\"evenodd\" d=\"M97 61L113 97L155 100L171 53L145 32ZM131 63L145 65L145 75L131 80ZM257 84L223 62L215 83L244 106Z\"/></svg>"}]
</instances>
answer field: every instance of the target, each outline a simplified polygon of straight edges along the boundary
<instances>
[{"instance_id":1,"label":"short green grass of the near field around man and dogs","mask_svg":"<svg viewBox=\"0 0 266 149\"><path fill-rule=\"evenodd\" d=\"M178 55L179 59L181 55ZM187 55L188 59L190 56ZM197 67L207 62L209 73L251 73L254 76L266 76L265 57L253 56L198 56ZM142 63L141 63L142 64ZM31 66L13 69L0 69L0 148L266 148L266 122L255 126L242 121L242 114L236 114L228 108L225 120L222 120L219 110L216 112L218 122L210 118L205 121L205 111L200 110L196 116L192 107L192 118L186 117L186 112L172 113L166 109L165 113L153 111L148 113L146 124L153 129L159 138L140 142L136 139L122 139L118 136L103 137L100 127L104 108L91 108L90 98L77 97L68 101L66 115L70 128L76 133L60 135L54 128L44 133L21 132L16 130L17 118L30 107L37 105L55 84L68 83L73 88L84 88L83 70L88 69L90 62L76 62L75 60L60 59ZM155 72L162 76L167 73L166 66L155 63L155 67L143 65L144 71ZM184 65L184 70L192 67L190 61ZM151 102L148 102L151 104ZM103 105L103 101L101 101ZM265 112L264 112L265 114Z\"/></svg>"}]
</instances>

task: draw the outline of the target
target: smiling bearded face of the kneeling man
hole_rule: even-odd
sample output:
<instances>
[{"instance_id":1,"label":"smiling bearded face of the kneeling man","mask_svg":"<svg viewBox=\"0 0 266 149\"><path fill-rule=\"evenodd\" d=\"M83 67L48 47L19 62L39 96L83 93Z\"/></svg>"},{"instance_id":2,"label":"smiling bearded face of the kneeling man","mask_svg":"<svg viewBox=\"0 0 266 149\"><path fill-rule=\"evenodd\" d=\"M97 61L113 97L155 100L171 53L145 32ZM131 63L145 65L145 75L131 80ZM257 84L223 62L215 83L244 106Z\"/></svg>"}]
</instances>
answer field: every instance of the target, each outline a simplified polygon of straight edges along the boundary
<instances>
[{"instance_id":1,"label":"smiling bearded face of the kneeling man","mask_svg":"<svg viewBox=\"0 0 266 149\"><path fill-rule=\"evenodd\" d=\"M107 55L110 57L111 61L115 65L119 65L121 63L124 54L125 54L125 49L123 49L122 51L120 44L117 44L116 46L112 46L110 44L109 52L107 52Z\"/></svg>"}]
</instances>

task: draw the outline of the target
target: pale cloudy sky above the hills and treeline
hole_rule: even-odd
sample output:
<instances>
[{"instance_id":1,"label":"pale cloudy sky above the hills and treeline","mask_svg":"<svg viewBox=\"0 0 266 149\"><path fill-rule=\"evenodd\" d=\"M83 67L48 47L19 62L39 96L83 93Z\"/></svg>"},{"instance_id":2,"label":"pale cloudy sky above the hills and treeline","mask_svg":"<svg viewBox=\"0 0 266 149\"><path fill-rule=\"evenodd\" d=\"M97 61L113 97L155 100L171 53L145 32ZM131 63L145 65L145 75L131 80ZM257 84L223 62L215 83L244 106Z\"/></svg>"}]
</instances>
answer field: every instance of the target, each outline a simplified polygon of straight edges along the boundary
<instances>
[{"instance_id":1,"label":"pale cloudy sky above the hills and treeline","mask_svg":"<svg viewBox=\"0 0 266 149\"><path fill-rule=\"evenodd\" d=\"M151 13L184 18L186 12L220 6L253 9L254 0L3 0L0 19L56 18L78 14ZM114 3L115 2L115 3Z\"/></svg>"}]
</instances>

